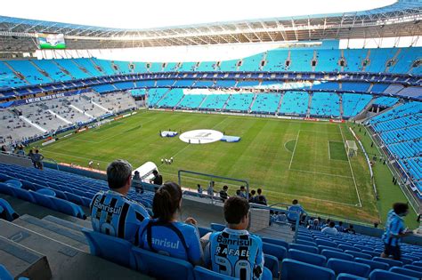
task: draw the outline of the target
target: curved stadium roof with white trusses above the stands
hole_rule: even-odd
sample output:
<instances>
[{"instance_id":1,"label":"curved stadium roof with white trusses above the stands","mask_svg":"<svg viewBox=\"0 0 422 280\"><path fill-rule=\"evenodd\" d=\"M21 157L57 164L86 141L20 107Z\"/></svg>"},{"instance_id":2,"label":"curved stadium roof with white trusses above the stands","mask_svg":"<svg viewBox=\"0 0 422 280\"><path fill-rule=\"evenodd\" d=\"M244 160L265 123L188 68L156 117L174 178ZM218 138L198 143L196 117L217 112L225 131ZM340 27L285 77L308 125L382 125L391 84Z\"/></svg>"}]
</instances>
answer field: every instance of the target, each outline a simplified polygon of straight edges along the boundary
<instances>
[{"instance_id":1,"label":"curved stadium roof with white trusses above the stands","mask_svg":"<svg viewBox=\"0 0 422 280\"><path fill-rule=\"evenodd\" d=\"M37 33L62 33L69 49L419 36L422 35L420 20L421 0L399 0L363 12L148 29L101 28L0 16L0 51L35 51Z\"/></svg>"}]
</instances>

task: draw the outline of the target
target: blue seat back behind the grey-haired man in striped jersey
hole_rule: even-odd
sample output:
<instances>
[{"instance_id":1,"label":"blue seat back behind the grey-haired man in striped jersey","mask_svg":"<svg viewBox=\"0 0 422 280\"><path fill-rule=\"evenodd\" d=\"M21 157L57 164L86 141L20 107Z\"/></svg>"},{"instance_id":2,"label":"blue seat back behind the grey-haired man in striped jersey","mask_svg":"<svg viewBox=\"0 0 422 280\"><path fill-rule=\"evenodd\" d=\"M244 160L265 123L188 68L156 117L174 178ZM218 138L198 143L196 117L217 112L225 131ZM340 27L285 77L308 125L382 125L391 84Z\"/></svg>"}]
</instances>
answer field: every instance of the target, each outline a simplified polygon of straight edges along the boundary
<instances>
[{"instance_id":1,"label":"blue seat back behind the grey-haired man in striped jersey","mask_svg":"<svg viewBox=\"0 0 422 280\"><path fill-rule=\"evenodd\" d=\"M82 228L89 243L90 252L102 259L118 263L126 268L137 268L132 244L127 240L107 236L90 229Z\"/></svg>"}]
</instances>

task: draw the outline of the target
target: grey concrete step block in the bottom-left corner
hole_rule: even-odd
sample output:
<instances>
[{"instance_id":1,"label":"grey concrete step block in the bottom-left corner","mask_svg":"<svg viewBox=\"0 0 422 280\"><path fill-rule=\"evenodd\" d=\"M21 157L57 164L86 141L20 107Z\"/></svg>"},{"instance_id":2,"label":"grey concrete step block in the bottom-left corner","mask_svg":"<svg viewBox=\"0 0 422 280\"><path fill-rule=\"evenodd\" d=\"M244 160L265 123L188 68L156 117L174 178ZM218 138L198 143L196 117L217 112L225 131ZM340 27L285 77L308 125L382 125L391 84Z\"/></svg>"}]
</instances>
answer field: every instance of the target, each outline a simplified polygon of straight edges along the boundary
<instances>
[{"instance_id":1,"label":"grey concrete step block in the bottom-left corner","mask_svg":"<svg viewBox=\"0 0 422 280\"><path fill-rule=\"evenodd\" d=\"M0 236L0 263L14 278L47 280L52 271L45 255Z\"/></svg>"}]
</instances>

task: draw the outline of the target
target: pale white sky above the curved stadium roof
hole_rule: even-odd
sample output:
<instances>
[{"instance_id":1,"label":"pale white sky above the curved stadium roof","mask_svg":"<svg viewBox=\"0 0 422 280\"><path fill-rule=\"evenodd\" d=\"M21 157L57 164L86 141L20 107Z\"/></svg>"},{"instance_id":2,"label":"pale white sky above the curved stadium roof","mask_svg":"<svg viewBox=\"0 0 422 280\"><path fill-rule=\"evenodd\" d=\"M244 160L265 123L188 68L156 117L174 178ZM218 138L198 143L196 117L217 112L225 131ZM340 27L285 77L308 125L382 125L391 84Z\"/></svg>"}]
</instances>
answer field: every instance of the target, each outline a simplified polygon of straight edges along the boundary
<instances>
[{"instance_id":1,"label":"pale white sky above the curved stadium roof","mask_svg":"<svg viewBox=\"0 0 422 280\"><path fill-rule=\"evenodd\" d=\"M20 0L2 1L0 15L108 28L160 28L231 20L355 12L395 2L396 0Z\"/></svg>"}]
</instances>

